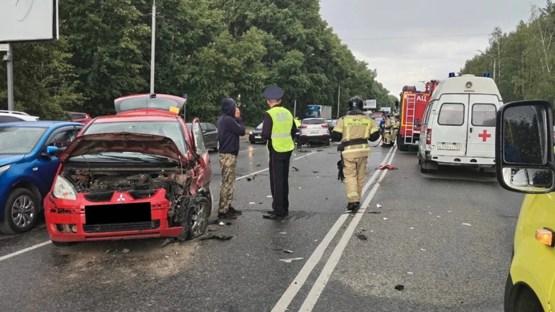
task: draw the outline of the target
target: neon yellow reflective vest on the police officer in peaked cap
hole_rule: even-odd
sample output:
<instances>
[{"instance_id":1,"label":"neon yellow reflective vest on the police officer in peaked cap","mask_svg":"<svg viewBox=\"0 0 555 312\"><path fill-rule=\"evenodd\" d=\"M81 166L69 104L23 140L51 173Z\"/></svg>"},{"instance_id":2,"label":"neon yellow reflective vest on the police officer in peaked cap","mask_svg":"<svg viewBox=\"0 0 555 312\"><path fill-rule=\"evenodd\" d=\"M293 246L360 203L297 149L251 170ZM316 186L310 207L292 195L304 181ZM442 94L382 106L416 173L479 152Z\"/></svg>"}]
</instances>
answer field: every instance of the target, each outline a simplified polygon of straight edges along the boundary
<instances>
[{"instance_id":1,"label":"neon yellow reflective vest on the police officer in peaked cap","mask_svg":"<svg viewBox=\"0 0 555 312\"><path fill-rule=\"evenodd\" d=\"M293 115L288 109L281 106L274 106L266 113L272 118L272 147L276 152L290 152L295 149L295 143L291 138L293 128ZM268 144L266 144L268 147Z\"/></svg>"}]
</instances>

